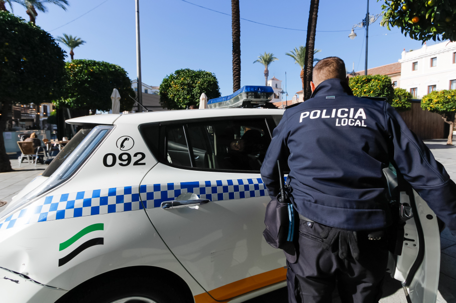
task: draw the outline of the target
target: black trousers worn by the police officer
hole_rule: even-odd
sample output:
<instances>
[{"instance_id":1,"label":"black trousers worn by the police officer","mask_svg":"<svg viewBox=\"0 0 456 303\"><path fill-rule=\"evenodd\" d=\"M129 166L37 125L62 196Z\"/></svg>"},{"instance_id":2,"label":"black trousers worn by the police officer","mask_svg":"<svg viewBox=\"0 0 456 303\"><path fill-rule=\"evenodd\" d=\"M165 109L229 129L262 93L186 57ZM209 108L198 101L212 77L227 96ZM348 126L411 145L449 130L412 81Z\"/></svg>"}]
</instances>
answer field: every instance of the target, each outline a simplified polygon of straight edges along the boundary
<instances>
[{"instance_id":1,"label":"black trousers worn by the police officer","mask_svg":"<svg viewBox=\"0 0 456 303\"><path fill-rule=\"evenodd\" d=\"M328 249L321 246L324 225L299 222L299 251L296 263L287 261L289 303L330 303L337 286L344 303L377 303L382 296L388 250L387 239L369 240L369 232L358 232L360 257L341 259L339 242ZM350 250L349 250L350 251Z\"/></svg>"}]
</instances>

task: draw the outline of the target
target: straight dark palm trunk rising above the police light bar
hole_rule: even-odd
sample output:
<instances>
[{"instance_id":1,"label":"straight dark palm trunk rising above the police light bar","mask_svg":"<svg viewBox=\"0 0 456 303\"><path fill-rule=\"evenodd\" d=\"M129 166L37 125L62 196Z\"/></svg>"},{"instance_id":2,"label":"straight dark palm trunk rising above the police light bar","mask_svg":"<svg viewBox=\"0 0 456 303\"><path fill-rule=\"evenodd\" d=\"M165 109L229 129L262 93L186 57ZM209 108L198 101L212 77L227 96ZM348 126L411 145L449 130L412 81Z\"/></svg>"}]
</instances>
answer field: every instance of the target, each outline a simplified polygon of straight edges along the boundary
<instances>
[{"instance_id":1,"label":"straight dark palm trunk rising above the police light bar","mask_svg":"<svg viewBox=\"0 0 456 303\"><path fill-rule=\"evenodd\" d=\"M233 35L233 93L241 88L241 19L239 0L231 0L231 28Z\"/></svg>"}]
</instances>

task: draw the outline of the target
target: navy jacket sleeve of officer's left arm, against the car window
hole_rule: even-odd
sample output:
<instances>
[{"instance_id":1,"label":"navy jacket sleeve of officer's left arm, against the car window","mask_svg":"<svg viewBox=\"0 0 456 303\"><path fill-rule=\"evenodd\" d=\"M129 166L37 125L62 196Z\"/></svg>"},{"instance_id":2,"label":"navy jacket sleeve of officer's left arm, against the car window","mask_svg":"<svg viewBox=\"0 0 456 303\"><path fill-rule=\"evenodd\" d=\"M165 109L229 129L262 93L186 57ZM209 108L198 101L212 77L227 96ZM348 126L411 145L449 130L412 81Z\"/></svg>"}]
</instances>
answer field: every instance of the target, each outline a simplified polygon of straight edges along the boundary
<instances>
[{"instance_id":1,"label":"navy jacket sleeve of officer's left arm, against the car window","mask_svg":"<svg viewBox=\"0 0 456 303\"><path fill-rule=\"evenodd\" d=\"M272 140L266 152L263 165L261 166L261 179L265 183L271 197L276 197L280 190L277 160L280 160L282 170L288 161L289 149L286 145L287 137L287 111L285 111L279 125L277 125L272 133Z\"/></svg>"}]
</instances>

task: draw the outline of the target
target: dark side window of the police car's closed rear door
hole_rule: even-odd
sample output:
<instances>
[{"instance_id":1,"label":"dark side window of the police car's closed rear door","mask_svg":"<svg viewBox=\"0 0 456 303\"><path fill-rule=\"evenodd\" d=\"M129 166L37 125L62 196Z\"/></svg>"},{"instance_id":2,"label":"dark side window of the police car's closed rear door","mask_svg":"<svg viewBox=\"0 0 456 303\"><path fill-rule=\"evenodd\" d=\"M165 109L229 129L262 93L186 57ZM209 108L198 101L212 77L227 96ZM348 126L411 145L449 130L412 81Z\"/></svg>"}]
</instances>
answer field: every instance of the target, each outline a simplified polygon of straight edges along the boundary
<instances>
[{"instance_id":1,"label":"dark side window of the police car's closed rear door","mask_svg":"<svg viewBox=\"0 0 456 303\"><path fill-rule=\"evenodd\" d=\"M197 170L258 172L275 126L272 117L230 117L143 124L140 132L161 163Z\"/></svg>"}]
</instances>

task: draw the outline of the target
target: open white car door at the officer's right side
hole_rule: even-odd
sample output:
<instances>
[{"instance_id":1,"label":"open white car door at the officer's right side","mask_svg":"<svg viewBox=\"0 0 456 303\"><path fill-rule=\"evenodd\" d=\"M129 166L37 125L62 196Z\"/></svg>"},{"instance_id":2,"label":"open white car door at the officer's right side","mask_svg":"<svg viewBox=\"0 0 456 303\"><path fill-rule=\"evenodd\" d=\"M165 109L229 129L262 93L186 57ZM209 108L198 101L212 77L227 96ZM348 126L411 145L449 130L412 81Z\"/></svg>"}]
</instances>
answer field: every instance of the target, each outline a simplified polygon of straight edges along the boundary
<instances>
[{"instance_id":1,"label":"open white car door at the officer's right side","mask_svg":"<svg viewBox=\"0 0 456 303\"><path fill-rule=\"evenodd\" d=\"M426 201L400 176L398 178L394 167L384 172L391 197L399 202L399 221L405 223L399 235L397 254L390 253L391 274L402 282L408 302L435 302L440 270L437 217Z\"/></svg>"}]
</instances>

